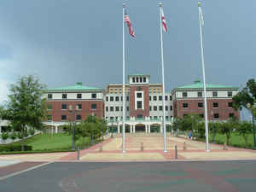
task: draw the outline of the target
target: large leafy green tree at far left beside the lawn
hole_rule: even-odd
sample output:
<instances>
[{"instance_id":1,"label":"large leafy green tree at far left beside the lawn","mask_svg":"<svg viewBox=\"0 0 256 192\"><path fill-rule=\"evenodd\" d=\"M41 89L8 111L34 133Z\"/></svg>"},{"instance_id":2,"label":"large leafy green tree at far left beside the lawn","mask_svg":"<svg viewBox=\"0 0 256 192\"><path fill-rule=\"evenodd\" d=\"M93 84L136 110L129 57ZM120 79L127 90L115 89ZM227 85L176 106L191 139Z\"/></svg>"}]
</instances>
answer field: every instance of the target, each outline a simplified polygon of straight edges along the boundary
<instances>
[{"instance_id":1,"label":"large leafy green tree at far left beside the lawn","mask_svg":"<svg viewBox=\"0 0 256 192\"><path fill-rule=\"evenodd\" d=\"M18 79L16 84L11 84L9 101L1 108L1 118L7 119L15 131L20 131L22 150L23 138L27 135L28 128L42 129L46 117L46 99L43 98L44 84L32 75Z\"/></svg>"}]
</instances>

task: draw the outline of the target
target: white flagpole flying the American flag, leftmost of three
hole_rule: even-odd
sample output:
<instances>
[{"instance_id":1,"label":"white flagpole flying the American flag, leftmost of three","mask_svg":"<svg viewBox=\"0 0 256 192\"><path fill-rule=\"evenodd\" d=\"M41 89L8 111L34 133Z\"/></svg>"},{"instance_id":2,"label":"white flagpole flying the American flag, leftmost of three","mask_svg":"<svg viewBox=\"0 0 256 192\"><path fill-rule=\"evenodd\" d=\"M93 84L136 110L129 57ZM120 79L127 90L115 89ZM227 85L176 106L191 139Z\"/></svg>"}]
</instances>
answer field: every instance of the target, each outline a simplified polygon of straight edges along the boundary
<instances>
[{"instance_id":1,"label":"white flagpole flying the American flag, leftmost of three","mask_svg":"<svg viewBox=\"0 0 256 192\"><path fill-rule=\"evenodd\" d=\"M125 153L125 3L123 3L123 153Z\"/></svg>"}]
</instances>

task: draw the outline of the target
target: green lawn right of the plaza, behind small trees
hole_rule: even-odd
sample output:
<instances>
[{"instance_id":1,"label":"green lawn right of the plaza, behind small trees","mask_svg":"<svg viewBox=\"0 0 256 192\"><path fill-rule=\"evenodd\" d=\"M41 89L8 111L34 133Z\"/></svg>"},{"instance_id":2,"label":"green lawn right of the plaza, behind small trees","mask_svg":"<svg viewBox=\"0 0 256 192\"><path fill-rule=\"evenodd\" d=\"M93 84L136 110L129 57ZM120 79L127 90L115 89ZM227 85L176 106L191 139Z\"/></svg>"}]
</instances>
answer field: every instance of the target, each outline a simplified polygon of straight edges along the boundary
<instances>
[{"instance_id":1,"label":"green lawn right of the plaza, behind small trees","mask_svg":"<svg viewBox=\"0 0 256 192\"><path fill-rule=\"evenodd\" d=\"M209 135L209 140L212 143L212 135ZM216 143L224 144L226 142L225 135L217 134L215 137ZM243 137L237 135L236 133L232 133L230 137L230 145L239 147L239 148L245 148L245 142ZM247 148L253 148L253 134L250 134L248 137L248 146Z\"/></svg>"}]
</instances>

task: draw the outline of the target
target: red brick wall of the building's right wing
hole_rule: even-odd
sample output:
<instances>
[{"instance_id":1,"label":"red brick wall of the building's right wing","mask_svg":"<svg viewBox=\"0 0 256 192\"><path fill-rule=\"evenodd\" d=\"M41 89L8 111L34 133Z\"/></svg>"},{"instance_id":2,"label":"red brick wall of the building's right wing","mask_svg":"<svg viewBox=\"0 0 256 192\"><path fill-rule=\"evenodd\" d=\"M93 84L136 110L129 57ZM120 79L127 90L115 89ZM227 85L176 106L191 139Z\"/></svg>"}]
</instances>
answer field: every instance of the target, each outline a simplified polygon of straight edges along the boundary
<instances>
[{"instance_id":1,"label":"red brick wall of the building's right wing","mask_svg":"<svg viewBox=\"0 0 256 192\"><path fill-rule=\"evenodd\" d=\"M189 108L183 108L183 102L189 103ZM204 103L204 100L176 100L174 102L174 116L183 117L183 114L204 113L204 108L198 108L198 102ZM218 102L218 108L213 108L213 102ZM229 119L230 113L234 113L234 115L239 119L239 111L229 108L229 102L232 102L232 99L207 99L208 119L212 120L214 113L218 113L219 120Z\"/></svg>"}]
</instances>

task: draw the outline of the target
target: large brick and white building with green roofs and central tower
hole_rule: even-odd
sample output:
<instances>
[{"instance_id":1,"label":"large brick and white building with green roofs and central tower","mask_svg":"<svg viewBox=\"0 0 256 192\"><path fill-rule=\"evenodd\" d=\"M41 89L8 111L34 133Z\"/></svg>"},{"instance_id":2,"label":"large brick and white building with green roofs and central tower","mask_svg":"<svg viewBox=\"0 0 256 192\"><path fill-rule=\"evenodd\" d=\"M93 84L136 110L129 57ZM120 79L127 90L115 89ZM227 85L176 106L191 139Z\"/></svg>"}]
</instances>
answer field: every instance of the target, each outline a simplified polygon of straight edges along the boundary
<instances>
[{"instance_id":1,"label":"large brick and white building with green roofs and central tower","mask_svg":"<svg viewBox=\"0 0 256 192\"><path fill-rule=\"evenodd\" d=\"M162 98L162 84L151 84L149 80L149 75L129 75L125 98L122 84L108 84L106 90L82 83L49 89L45 95L48 98L48 121L45 124L49 125L49 131L58 132L68 121L79 122L93 114L106 119L112 131L121 132L125 110L126 132L162 132L163 110L166 110L167 131L175 117L189 113L204 116L203 84L199 80L166 92L165 98ZM207 84L208 119L239 118L239 112L232 108L232 96L237 92L236 87ZM163 99L166 108L162 107Z\"/></svg>"}]
</instances>

